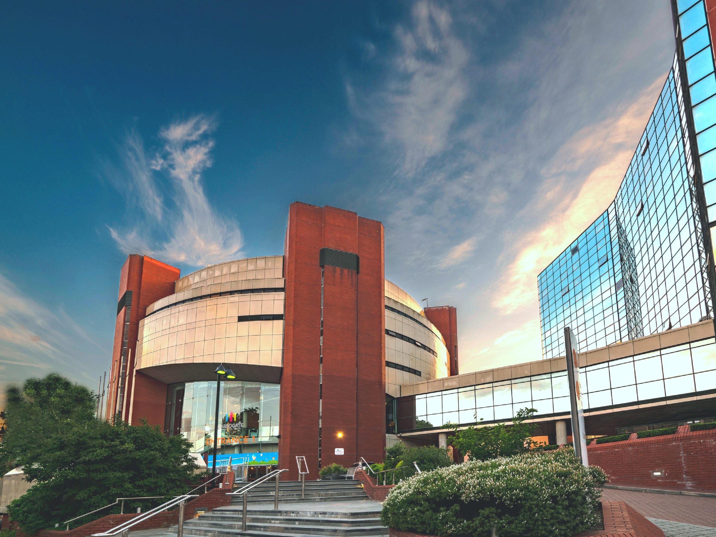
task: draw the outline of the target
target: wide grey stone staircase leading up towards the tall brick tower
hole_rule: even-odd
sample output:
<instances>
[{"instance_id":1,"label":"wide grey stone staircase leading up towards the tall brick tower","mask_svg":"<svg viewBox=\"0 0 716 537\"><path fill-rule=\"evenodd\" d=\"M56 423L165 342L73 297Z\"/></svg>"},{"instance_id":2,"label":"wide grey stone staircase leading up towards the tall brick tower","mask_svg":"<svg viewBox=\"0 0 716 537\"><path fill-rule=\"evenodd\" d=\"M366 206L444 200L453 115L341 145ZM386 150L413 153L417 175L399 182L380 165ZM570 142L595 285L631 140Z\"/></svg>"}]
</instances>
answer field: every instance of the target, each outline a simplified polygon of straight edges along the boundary
<instances>
[{"instance_id":1,"label":"wide grey stone staircase leading up towards the tall brick tower","mask_svg":"<svg viewBox=\"0 0 716 537\"><path fill-rule=\"evenodd\" d=\"M185 537L384 537L380 504L367 502L358 481L281 481L274 511L275 483L257 485L248 495L246 531L241 531L241 497L184 523Z\"/></svg>"}]
</instances>

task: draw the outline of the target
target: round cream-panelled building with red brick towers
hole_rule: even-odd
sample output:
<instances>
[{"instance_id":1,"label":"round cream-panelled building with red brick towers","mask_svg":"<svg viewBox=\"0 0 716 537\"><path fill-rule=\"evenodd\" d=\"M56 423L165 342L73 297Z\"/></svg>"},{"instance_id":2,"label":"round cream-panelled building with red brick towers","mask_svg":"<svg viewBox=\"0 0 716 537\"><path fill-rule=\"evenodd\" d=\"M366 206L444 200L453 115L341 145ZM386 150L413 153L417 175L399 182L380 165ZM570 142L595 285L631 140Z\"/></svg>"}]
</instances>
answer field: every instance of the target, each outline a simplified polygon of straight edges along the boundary
<instances>
[{"instance_id":1,"label":"round cream-panelled building with red brick towers","mask_svg":"<svg viewBox=\"0 0 716 537\"><path fill-rule=\"evenodd\" d=\"M423 311L384 279L382 223L293 203L283 256L226 261L180 277L131 255L122 267L107 416L120 412L219 453L298 478L382 460L400 385L456 374L457 316Z\"/></svg>"}]
</instances>

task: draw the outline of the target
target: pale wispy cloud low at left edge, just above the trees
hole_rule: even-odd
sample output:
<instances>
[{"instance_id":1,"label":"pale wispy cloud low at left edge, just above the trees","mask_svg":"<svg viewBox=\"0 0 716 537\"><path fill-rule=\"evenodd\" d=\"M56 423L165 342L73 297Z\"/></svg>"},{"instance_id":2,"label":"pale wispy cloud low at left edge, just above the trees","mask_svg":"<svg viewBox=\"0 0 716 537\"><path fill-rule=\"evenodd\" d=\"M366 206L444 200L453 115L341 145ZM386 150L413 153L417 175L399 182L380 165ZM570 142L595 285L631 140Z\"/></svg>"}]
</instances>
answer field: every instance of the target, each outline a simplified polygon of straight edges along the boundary
<instances>
[{"instance_id":1,"label":"pale wispy cloud low at left edge, just above the trees","mask_svg":"<svg viewBox=\"0 0 716 537\"><path fill-rule=\"evenodd\" d=\"M38 304L0 274L0 392L50 372L92 386L92 362L108 357L62 309Z\"/></svg>"}]
</instances>

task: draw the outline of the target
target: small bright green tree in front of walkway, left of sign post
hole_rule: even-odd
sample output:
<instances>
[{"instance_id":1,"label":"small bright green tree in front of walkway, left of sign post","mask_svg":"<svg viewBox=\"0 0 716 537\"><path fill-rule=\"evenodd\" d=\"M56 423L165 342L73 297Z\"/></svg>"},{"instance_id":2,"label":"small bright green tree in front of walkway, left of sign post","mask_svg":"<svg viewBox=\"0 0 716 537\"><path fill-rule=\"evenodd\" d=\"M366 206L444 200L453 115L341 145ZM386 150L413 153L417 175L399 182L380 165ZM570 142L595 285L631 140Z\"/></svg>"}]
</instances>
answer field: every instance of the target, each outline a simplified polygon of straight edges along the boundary
<instances>
[{"instance_id":1,"label":"small bright green tree in front of walkway, left of sign post","mask_svg":"<svg viewBox=\"0 0 716 537\"><path fill-rule=\"evenodd\" d=\"M448 442L460 453L467 454L471 460L488 460L524 453L536 447L536 442L531 440L535 426L526 423L535 412L537 410L534 408L518 410L512 425L498 423L488 427L470 426L463 430L455 427L455 435L449 437Z\"/></svg>"}]
</instances>

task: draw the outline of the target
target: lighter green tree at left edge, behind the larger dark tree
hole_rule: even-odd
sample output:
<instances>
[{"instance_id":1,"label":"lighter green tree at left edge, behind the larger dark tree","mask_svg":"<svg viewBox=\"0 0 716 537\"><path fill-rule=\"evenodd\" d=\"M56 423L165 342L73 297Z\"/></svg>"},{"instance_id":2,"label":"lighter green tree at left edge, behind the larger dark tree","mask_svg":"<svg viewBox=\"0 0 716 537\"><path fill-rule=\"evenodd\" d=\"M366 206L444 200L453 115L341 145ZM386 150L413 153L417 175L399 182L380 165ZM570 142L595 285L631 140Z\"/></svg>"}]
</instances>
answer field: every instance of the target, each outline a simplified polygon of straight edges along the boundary
<instances>
[{"instance_id":1,"label":"lighter green tree at left edge, behind the larger dark tree","mask_svg":"<svg viewBox=\"0 0 716 537\"><path fill-rule=\"evenodd\" d=\"M95 395L58 374L29 379L22 390L9 386L5 394L6 430L0 443L0 470L5 472L34 464L50 438L95 420Z\"/></svg>"}]
</instances>

